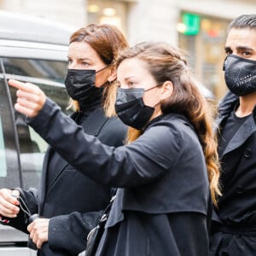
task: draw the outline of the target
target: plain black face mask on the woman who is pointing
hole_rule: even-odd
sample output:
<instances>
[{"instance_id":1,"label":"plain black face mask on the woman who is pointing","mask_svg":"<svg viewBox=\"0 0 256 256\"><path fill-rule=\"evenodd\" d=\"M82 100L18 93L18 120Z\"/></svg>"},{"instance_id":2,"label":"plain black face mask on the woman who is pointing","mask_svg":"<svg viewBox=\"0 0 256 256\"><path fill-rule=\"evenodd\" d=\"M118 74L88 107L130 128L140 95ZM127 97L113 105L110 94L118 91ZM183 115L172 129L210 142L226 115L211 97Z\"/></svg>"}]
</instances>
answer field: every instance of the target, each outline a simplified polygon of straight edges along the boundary
<instances>
[{"instance_id":1,"label":"plain black face mask on the woman who is pointing","mask_svg":"<svg viewBox=\"0 0 256 256\"><path fill-rule=\"evenodd\" d=\"M154 108L144 105L144 91L146 90L143 88L119 88L115 102L115 111L119 119L125 125L129 125L137 130L143 129L154 113Z\"/></svg>"}]
</instances>

